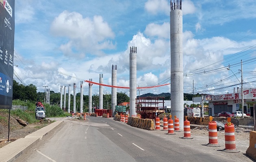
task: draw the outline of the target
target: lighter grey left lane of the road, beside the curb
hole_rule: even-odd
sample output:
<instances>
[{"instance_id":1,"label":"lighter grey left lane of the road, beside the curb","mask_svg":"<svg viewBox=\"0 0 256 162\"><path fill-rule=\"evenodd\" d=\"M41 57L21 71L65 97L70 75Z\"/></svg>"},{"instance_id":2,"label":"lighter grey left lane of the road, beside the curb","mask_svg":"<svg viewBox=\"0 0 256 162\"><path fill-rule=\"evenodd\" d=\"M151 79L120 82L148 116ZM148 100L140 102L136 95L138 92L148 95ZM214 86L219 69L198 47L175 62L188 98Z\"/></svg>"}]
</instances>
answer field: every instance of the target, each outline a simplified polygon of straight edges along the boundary
<instances>
[{"instance_id":1,"label":"lighter grey left lane of the road, beside the curb","mask_svg":"<svg viewBox=\"0 0 256 162\"><path fill-rule=\"evenodd\" d=\"M102 119L100 117L100 119ZM16 162L135 162L123 149L98 131L111 129L101 120L91 123L79 120L64 120L63 126L44 139ZM112 129L111 129L112 130Z\"/></svg>"}]
</instances>

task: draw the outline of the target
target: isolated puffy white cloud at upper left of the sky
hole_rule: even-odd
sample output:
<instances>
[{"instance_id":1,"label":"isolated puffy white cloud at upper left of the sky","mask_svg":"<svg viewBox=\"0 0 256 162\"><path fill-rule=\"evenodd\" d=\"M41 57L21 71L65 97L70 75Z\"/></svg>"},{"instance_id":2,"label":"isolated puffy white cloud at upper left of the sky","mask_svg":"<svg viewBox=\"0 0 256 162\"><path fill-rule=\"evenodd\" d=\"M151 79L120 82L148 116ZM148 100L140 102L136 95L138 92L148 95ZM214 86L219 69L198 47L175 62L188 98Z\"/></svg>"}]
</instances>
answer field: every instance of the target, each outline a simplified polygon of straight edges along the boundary
<instances>
[{"instance_id":1,"label":"isolated puffy white cloud at upper left of the sky","mask_svg":"<svg viewBox=\"0 0 256 162\"><path fill-rule=\"evenodd\" d=\"M80 13L63 11L52 22L51 32L69 39L59 48L67 56L83 56L83 53L100 55L101 50L115 48L109 40L115 38L115 34L101 16L95 15L90 19L83 18Z\"/></svg>"}]
</instances>

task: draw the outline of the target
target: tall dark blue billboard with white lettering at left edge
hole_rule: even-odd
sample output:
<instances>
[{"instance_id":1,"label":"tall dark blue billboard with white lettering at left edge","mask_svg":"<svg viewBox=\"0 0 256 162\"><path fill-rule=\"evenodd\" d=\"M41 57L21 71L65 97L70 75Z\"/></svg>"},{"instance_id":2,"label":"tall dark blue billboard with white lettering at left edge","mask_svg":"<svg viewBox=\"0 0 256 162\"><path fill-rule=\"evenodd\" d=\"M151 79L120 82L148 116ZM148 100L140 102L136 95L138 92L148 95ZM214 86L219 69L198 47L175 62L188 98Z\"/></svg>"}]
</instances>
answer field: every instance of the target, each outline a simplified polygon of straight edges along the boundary
<instances>
[{"instance_id":1,"label":"tall dark blue billboard with white lettering at left edge","mask_svg":"<svg viewBox=\"0 0 256 162\"><path fill-rule=\"evenodd\" d=\"M15 0L0 0L0 109L11 109Z\"/></svg>"}]
</instances>

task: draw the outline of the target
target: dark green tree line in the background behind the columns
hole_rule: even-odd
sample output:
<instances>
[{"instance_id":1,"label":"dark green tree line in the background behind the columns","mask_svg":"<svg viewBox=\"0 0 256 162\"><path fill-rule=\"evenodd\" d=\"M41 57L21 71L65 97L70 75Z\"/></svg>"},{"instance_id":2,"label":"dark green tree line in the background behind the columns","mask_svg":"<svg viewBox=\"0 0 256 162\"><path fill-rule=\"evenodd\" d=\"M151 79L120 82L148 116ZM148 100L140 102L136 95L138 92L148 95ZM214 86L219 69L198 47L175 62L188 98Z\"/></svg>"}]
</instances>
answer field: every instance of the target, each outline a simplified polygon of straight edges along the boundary
<instances>
[{"instance_id":1,"label":"dark green tree line in the background behind the columns","mask_svg":"<svg viewBox=\"0 0 256 162\"><path fill-rule=\"evenodd\" d=\"M30 101L30 102L44 102L45 92L37 92L37 87L33 84L23 85L21 83L13 80L13 100L19 99L22 101ZM170 93L161 93L161 94L143 94L137 97L165 97L164 100L170 100ZM194 97L201 96L200 94L184 94L184 100L192 100ZM64 97L64 95L63 95ZM55 93L54 91L50 91L50 105L60 105L61 94L60 92ZM64 98L62 100L64 102ZM68 94L66 94L66 109L68 106ZM73 110L73 102L74 96L70 94L70 109ZM130 102L130 98L123 92L117 92L117 104L122 102ZM99 107L99 95L94 94L92 96L92 107ZM83 95L83 110L88 110L89 108L89 96ZM62 104L64 106L64 103ZM111 94L103 94L103 109L111 109ZM76 110L80 110L80 92L76 94Z\"/></svg>"}]
</instances>

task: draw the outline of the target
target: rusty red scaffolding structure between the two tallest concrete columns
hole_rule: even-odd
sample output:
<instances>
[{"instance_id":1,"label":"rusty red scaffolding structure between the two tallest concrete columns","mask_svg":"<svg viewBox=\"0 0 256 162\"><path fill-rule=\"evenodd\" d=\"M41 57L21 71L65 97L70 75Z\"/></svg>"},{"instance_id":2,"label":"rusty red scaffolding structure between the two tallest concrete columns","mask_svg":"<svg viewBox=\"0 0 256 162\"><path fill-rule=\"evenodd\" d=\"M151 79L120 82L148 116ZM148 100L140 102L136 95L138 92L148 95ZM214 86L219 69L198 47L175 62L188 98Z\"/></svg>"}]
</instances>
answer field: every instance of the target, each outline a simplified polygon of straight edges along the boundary
<instances>
[{"instance_id":1,"label":"rusty red scaffolding structure between the two tallest concrete columns","mask_svg":"<svg viewBox=\"0 0 256 162\"><path fill-rule=\"evenodd\" d=\"M164 97L136 98L136 113L141 115L141 119L156 119L165 112L164 103Z\"/></svg>"}]
</instances>

